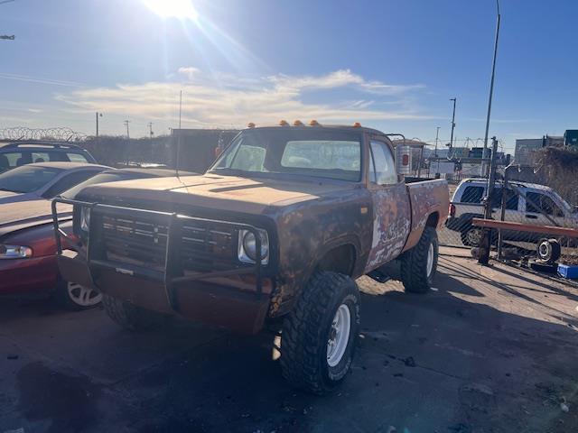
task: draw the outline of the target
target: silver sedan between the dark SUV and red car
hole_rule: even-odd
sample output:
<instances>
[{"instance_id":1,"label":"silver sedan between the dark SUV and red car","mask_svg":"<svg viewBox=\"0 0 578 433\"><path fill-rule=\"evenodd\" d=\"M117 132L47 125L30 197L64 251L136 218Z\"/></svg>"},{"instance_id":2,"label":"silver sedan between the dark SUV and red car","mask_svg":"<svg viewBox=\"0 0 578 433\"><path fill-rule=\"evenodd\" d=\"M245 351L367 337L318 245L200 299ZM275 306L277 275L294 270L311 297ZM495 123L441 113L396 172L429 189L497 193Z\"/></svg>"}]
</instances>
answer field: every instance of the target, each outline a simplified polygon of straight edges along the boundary
<instances>
[{"instance_id":1,"label":"silver sedan between the dark SUV and red car","mask_svg":"<svg viewBox=\"0 0 578 433\"><path fill-rule=\"evenodd\" d=\"M36 162L0 173L0 204L50 199L110 167L87 162Z\"/></svg>"}]
</instances>

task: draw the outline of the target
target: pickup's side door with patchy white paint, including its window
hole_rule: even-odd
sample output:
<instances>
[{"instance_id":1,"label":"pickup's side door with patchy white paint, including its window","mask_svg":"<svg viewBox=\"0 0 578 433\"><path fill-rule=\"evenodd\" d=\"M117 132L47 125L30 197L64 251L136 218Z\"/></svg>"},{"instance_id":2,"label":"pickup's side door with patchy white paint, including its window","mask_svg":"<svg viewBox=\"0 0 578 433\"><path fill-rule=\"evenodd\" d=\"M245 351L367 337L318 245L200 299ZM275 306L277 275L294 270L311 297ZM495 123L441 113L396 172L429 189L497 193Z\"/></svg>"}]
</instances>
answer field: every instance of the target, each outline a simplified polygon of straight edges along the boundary
<instances>
[{"instance_id":1,"label":"pickup's side door with patchy white paint, including its window","mask_svg":"<svg viewBox=\"0 0 578 433\"><path fill-rule=\"evenodd\" d=\"M369 142L368 189L373 200L373 239L366 272L395 259L411 229L406 183L397 176L391 147Z\"/></svg>"}]
</instances>

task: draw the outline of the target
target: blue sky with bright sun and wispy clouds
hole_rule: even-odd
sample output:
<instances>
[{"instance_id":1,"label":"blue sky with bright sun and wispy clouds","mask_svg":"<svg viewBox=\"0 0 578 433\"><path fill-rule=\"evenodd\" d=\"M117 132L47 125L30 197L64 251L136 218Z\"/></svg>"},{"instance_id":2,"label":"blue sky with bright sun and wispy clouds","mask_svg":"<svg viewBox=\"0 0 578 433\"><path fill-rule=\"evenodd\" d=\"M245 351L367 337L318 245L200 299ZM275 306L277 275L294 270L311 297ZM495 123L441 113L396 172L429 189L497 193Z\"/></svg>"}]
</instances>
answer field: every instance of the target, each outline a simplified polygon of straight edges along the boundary
<instances>
[{"instance_id":1,"label":"blue sky with bright sun and wispy clouds","mask_svg":"<svg viewBox=\"0 0 578 433\"><path fill-rule=\"evenodd\" d=\"M279 120L483 137L493 0L0 0L0 130L133 137ZM178 17L167 5L181 4ZM578 129L575 0L500 0L489 135ZM480 141L477 142L480 144Z\"/></svg>"}]
</instances>

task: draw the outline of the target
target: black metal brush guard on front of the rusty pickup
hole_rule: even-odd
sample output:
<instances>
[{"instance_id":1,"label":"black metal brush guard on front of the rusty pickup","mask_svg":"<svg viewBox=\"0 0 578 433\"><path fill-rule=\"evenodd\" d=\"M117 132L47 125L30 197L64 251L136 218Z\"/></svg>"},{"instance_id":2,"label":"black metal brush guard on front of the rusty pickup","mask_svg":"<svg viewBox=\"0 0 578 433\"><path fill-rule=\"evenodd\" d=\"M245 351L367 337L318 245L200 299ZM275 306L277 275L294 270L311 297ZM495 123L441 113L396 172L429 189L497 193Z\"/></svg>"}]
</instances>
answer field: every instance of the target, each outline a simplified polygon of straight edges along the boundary
<instances>
[{"instance_id":1,"label":"black metal brush guard on front of the rusty pickup","mask_svg":"<svg viewBox=\"0 0 578 433\"><path fill-rule=\"evenodd\" d=\"M62 254L62 238L65 238L70 244L76 244L76 241L67 235L59 226L57 205L59 203L73 205L75 207L88 207L90 209L89 222L89 238L87 242L86 263L89 269L89 278L95 287L94 275L98 268L114 270L116 272L125 273L131 276L144 278L160 282L164 286L167 302L170 308L178 313L179 307L177 299L174 296L173 285L175 283L203 281L212 278L228 277L233 275L254 274L256 276L256 295L260 296L263 293L263 264L261 260L261 237L255 226L242 223L232 223L228 221L214 220L209 218L188 217L176 213L159 212L154 210L137 209L133 207L119 207L112 205L105 205L100 203L89 203L79 200L70 200L66 198L54 198L51 203L52 222L54 225L54 235L56 239L57 253ZM91 242L90 237L96 239L98 236L98 228L95 222L98 221L99 216L107 217L144 217L146 221L152 221L157 224L167 226L167 238L165 247L165 260L163 272L155 272L151 269L145 268L131 263L117 263L106 260L101 252L98 252L98 242ZM234 231L247 230L255 235L256 239L256 263L238 263L237 267L218 272L193 272L189 275L184 275L182 263L180 261L180 251L178 247L172 247L177 244L177 241L182 237L182 226L187 221L200 223L201 225L214 224L218 226L230 227L231 234ZM75 220L74 224L79 222ZM234 245L231 239L231 243ZM235 254L236 255L236 254ZM191 272L189 272L191 273Z\"/></svg>"}]
</instances>

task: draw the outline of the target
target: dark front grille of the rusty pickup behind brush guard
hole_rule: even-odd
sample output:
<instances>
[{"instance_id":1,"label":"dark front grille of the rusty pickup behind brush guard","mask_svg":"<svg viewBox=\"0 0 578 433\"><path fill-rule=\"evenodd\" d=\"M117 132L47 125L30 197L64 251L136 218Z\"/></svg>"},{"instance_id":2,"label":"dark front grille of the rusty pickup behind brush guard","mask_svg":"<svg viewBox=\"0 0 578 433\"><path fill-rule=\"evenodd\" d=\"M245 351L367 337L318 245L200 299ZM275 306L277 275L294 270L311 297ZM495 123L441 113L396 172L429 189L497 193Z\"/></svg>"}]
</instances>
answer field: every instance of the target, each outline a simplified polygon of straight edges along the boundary
<instances>
[{"instance_id":1,"label":"dark front grille of the rusty pickup behind brush guard","mask_svg":"<svg viewBox=\"0 0 578 433\"><path fill-rule=\"evenodd\" d=\"M197 220L181 221L180 235L172 248L177 249L183 271L210 272L239 265L237 230L227 223ZM163 272L166 260L168 225L158 221L103 215L100 243L109 261L131 263Z\"/></svg>"}]
</instances>

